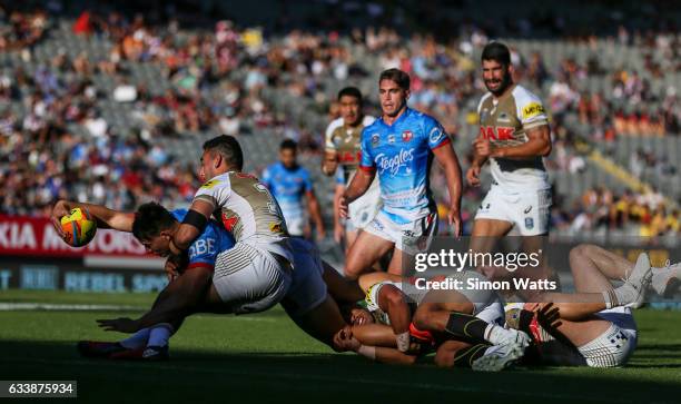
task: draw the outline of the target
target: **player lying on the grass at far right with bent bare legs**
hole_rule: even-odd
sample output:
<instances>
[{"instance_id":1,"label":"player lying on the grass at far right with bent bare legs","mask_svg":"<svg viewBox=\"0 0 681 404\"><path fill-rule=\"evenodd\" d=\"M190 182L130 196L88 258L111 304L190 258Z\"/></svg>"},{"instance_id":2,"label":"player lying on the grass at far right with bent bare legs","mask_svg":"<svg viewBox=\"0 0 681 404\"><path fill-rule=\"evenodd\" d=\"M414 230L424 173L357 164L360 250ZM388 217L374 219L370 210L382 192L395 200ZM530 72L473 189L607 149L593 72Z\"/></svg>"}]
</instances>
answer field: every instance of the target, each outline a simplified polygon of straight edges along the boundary
<instances>
[{"instance_id":1,"label":"player lying on the grass at far right with bent bare legs","mask_svg":"<svg viewBox=\"0 0 681 404\"><path fill-rule=\"evenodd\" d=\"M639 255L635 265L595 245L580 245L570 252L570 268L576 293L613 290L611 280L650 268L647 254ZM673 268L655 268L655 280L664 279ZM667 284L653 284L663 294ZM533 338L527 364L586 365L591 367L622 366L636 346L638 329L630 307L599 309L585 303L555 303L559 318L537 324L534 313L546 303L509 305L510 326L525 329ZM515 306L515 307L514 307ZM565 315L566 314L566 315Z\"/></svg>"}]
</instances>

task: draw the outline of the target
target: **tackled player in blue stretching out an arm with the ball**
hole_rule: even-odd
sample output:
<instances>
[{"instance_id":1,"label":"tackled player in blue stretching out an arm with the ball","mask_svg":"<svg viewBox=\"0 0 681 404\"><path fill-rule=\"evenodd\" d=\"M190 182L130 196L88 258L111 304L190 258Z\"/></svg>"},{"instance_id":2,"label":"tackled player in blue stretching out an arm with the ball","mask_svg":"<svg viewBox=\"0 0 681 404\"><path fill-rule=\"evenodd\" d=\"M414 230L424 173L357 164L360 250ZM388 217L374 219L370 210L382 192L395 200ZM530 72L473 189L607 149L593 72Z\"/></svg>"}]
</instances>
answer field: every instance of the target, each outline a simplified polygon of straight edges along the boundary
<instances>
[{"instance_id":1,"label":"tackled player in blue stretching out an arm with the ball","mask_svg":"<svg viewBox=\"0 0 681 404\"><path fill-rule=\"evenodd\" d=\"M69 206L70 208L70 206ZM145 204L134 215L88 205L90 213L117 229L131 229L147 249L159 256L168 256L169 242L180 225L186 210L167 211L158 204ZM131 220L131 224L130 224ZM110 226L114 227L114 226ZM346 300L356 300L362 290L353 290L332 267L323 263L312 245L304 240L290 240L296 264L292 287L282 305L294 322L313 337L333 346L333 336L346 323L340 316L336 302L327 294ZM159 294L154 307L137 321L118 318L100 321L100 326L127 333L135 333L120 343L83 342L80 349L85 355L112 357L167 356L167 341L177 331L187 315L194 313L234 313L234 306L244 302L225 302L211 283L216 256L231 248L234 242L217 223L209 223L195 240L184 260L174 260L167 270L174 278ZM257 298L257 296L256 296ZM157 332L157 328L165 332ZM165 338L155 338L156 334ZM145 346L151 349L142 349Z\"/></svg>"}]
</instances>

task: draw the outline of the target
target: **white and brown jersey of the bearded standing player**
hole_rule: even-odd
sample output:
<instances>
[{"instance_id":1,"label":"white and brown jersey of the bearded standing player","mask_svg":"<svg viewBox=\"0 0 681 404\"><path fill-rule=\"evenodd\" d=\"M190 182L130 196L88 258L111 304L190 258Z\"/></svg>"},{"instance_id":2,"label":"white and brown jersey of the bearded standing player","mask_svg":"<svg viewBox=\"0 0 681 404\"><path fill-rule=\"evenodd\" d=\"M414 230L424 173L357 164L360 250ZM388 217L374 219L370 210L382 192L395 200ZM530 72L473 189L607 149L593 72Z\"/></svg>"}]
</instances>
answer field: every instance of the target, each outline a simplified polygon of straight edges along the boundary
<instances>
[{"instance_id":1,"label":"white and brown jersey of the bearded standing player","mask_svg":"<svg viewBox=\"0 0 681 404\"><path fill-rule=\"evenodd\" d=\"M491 92L477 106L480 136L493 146L517 146L527 142L526 131L549 125L542 101L520 85L501 98ZM541 156L529 159L490 158L492 177L507 191L550 188Z\"/></svg>"}]
</instances>

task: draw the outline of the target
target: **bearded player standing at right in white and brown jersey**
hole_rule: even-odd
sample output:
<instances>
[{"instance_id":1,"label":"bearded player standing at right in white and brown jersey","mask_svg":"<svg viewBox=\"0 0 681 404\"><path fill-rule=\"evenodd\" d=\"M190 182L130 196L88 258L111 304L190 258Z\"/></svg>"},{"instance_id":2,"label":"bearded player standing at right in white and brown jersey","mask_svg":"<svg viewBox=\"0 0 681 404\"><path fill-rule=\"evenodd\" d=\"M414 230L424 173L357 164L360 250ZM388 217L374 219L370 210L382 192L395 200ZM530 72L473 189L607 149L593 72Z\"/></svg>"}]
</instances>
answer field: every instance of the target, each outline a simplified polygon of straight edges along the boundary
<instances>
[{"instance_id":1,"label":"bearded player standing at right in white and brown jersey","mask_svg":"<svg viewBox=\"0 0 681 404\"><path fill-rule=\"evenodd\" d=\"M551 152L551 134L544 107L535 95L513 82L506 46L488 43L482 67L490 92L477 107L480 135L473 144L466 179L471 186L480 186L481 167L488 160L494 180L475 215L472 236L500 237L513 227L522 236L547 234L551 191L542 157Z\"/></svg>"}]
</instances>

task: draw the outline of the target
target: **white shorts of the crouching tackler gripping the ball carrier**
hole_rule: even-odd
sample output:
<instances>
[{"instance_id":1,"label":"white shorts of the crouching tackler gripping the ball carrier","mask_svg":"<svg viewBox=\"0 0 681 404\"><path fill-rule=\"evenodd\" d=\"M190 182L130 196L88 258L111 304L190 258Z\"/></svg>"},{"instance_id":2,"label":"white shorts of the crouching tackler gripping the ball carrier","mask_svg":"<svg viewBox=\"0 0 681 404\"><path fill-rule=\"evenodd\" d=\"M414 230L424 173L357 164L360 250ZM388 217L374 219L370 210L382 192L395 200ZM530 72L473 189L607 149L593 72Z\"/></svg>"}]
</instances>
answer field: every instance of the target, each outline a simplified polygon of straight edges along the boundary
<instances>
[{"instance_id":1,"label":"white shorts of the crouching tackler gripping the ball carrier","mask_svg":"<svg viewBox=\"0 0 681 404\"><path fill-rule=\"evenodd\" d=\"M258 313L273 307L288 293L290 272L284 256L239 242L218 254L213 284L233 313Z\"/></svg>"}]
</instances>

